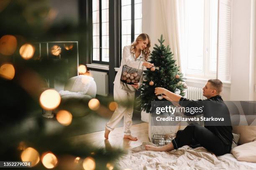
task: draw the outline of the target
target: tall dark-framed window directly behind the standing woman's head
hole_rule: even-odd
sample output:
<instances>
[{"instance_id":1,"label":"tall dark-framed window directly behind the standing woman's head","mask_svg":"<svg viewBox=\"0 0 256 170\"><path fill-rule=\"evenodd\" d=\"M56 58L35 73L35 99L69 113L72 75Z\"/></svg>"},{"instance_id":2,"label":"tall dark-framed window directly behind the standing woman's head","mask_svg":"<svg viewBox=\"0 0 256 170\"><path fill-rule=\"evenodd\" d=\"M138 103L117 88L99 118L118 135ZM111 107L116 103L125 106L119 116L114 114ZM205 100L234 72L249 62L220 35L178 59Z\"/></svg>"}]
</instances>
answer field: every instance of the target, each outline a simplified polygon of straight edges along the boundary
<instances>
[{"instance_id":1,"label":"tall dark-framed window directly behind the standing woman's head","mask_svg":"<svg viewBox=\"0 0 256 170\"><path fill-rule=\"evenodd\" d=\"M120 56L122 56L123 47L131 45L131 42L141 34L141 0L121 0L120 19Z\"/></svg>"}]
</instances>

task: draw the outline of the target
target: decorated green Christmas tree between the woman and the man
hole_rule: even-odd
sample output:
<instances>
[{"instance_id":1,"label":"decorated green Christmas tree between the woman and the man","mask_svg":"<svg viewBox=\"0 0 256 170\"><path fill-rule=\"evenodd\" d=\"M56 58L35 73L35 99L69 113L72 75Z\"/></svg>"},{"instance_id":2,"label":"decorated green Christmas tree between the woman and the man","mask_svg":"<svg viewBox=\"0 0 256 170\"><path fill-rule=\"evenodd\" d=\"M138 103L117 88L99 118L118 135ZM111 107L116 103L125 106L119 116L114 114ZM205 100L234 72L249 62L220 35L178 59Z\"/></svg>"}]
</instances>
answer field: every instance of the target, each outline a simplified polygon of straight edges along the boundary
<instances>
[{"instance_id":1,"label":"decorated green Christmas tree between the woman and the man","mask_svg":"<svg viewBox=\"0 0 256 170\"><path fill-rule=\"evenodd\" d=\"M161 96L156 96L155 87L163 87L171 92L175 92L184 96L184 89L187 85L184 83L183 74L179 72L179 66L175 64L173 53L169 47L163 42L163 35L160 45L155 44L154 50L151 52L150 62L154 63L154 67L143 72L143 84L141 86L141 102L142 110L151 111L151 101L165 100Z\"/></svg>"}]
</instances>

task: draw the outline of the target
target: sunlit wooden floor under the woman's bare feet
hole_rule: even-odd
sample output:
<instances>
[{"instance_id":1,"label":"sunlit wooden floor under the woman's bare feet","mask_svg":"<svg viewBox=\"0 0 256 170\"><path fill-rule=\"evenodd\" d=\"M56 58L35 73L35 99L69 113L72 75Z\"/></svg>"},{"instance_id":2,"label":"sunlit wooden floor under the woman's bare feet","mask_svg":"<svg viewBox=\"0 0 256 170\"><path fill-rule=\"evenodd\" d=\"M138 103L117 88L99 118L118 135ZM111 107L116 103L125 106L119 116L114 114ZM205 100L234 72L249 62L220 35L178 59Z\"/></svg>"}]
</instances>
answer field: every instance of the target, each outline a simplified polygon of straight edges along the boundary
<instances>
[{"instance_id":1,"label":"sunlit wooden floor under the woman's bare feet","mask_svg":"<svg viewBox=\"0 0 256 170\"><path fill-rule=\"evenodd\" d=\"M148 123L139 123L133 125L131 128L132 135L137 137L137 141L131 141L123 138L123 127L115 128L115 130L110 132L108 140L105 140L105 131L99 131L95 133L88 133L85 135L79 135L72 138L74 143L89 142L95 147L114 147L123 148L128 150L140 146L143 141L149 142L148 139Z\"/></svg>"}]
</instances>

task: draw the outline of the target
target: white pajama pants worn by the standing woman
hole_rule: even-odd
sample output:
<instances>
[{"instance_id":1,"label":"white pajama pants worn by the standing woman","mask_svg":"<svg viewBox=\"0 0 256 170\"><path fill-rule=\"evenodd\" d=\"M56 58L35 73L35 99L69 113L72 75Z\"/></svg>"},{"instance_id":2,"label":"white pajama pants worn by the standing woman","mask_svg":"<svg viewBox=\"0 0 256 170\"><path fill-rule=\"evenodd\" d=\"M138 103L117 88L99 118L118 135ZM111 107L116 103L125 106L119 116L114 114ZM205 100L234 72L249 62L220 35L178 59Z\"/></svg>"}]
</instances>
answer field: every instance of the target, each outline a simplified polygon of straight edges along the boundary
<instances>
[{"instance_id":1,"label":"white pajama pants worn by the standing woman","mask_svg":"<svg viewBox=\"0 0 256 170\"><path fill-rule=\"evenodd\" d=\"M127 92L114 85L114 100L118 103L118 107L106 124L106 128L110 131L114 130L120 120L123 118L123 126L125 135L131 135L131 127L133 125L133 101L135 92ZM129 106L122 105L123 102L132 101Z\"/></svg>"}]
</instances>

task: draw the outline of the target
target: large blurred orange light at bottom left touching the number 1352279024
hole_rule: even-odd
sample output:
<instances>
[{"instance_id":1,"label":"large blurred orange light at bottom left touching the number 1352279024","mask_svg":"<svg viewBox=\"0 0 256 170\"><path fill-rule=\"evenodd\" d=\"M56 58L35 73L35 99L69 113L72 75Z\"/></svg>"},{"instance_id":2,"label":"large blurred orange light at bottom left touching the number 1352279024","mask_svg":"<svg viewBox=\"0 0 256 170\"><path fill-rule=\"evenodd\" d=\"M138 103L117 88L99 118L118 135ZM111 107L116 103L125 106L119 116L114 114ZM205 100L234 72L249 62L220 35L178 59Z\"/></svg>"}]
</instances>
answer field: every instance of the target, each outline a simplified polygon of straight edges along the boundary
<instances>
[{"instance_id":1,"label":"large blurred orange light at bottom left touching the number 1352279024","mask_svg":"<svg viewBox=\"0 0 256 170\"><path fill-rule=\"evenodd\" d=\"M38 164L40 158L39 153L34 148L26 148L20 155L22 161L31 161L31 166Z\"/></svg>"}]
</instances>

